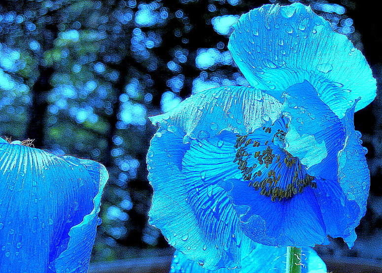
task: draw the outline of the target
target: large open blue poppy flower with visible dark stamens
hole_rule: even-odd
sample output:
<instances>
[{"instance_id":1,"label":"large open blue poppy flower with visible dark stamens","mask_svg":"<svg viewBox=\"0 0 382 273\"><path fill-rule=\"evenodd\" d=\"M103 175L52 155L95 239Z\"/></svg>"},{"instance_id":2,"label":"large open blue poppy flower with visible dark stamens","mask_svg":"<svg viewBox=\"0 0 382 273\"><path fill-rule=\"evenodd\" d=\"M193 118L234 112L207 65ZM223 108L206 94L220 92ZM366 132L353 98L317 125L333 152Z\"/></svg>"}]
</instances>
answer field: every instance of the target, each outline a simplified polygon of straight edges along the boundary
<instances>
[{"instance_id":1,"label":"large open blue poppy flower with visible dark stamens","mask_svg":"<svg viewBox=\"0 0 382 273\"><path fill-rule=\"evenodd\" d=\"M352 246L369 190L353 114L376 95L370 67L300 3L264 5L234 29L229 48L252 86L151 117L151 224L208 270L240 267L256 243Z\"/></svg>"}]
</instances>

